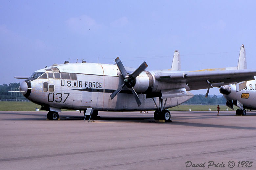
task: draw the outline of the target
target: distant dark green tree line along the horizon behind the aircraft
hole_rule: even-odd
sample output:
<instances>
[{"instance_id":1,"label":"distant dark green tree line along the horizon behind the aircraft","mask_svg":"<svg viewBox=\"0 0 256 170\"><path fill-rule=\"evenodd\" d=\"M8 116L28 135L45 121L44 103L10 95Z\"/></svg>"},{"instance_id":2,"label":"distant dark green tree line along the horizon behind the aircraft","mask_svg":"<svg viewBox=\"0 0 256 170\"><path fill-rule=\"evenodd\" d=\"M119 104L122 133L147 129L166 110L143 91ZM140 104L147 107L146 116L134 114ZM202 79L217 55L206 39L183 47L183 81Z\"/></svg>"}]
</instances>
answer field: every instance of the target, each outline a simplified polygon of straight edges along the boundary
<instances>
[{"instance_id":1,"label":"distant dark green tree line along the horizon behind the aircraft","mask_svg":"<svg viewBox=\"0 0 256 170\"><path fill-rule=\"evenodd\" d=\"M20 83L10 83L9 85L0 85L0 99L25 99L22 93L19 92L8 92L8 91L19 91ZM197 94L194 95L190 100L186 101L185 104L220 104L225 105L226 99L221 96L209 95L208 98L205 95Z\"/></svg>"}]
</instances>

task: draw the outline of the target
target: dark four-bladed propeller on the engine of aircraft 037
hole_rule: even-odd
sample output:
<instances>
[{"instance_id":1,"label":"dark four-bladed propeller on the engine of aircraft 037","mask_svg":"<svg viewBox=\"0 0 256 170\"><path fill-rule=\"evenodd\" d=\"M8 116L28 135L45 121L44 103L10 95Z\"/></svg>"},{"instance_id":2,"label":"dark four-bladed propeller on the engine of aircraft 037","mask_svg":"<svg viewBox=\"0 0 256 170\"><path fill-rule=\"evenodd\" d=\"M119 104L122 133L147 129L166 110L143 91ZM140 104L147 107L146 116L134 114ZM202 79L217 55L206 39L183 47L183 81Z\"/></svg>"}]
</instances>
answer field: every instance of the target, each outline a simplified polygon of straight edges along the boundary
<instances>
[{"instance_id":1,"label":"dark four-bladed propeller on the engine of aircraft 037","mask_svg":"<svg viewBox=\"0 0 256 170\"><path fill-rule=\"evenodd\" d=\"M146 68L147 68L147 63L146 62L143 62L134 72L128 74L127 71L125 70L124 66L123 66L123 63L121 62L121 60L119 59L119 57L117 57L115 59L115 62L117 63L117 67L119 69L119 71L121 72L122 74L122 77L123 77L123 84L121 86L119 86L117 88L117 90L115 90L111 95L110 95L110 98L113 99L125 86L128 88L128 89L131 89L132 93L133 93L133 96L138 104L138 106L141 105L141 102L139 100L139 96L138 94L135 92L134 90L134 86L135 86L135 83L136 83L136 77L140 75L140 73L142 73Z\"/></svg>"}]
</instances>

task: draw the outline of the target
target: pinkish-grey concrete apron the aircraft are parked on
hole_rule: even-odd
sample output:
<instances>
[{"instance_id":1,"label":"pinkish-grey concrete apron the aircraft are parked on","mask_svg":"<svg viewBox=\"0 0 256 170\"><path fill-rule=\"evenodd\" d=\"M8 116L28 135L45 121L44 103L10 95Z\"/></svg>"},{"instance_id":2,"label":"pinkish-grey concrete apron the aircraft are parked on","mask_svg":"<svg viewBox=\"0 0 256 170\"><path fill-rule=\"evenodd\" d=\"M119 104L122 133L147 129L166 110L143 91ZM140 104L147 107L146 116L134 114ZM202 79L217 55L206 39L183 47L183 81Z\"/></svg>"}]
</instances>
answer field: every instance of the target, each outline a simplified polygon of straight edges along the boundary
<instances>
[{"instance_id":1,"label":"pinkish-grey concrete apron the aircraft are parked on","mask_svg":"<svg viewBox=\"0 0 256 170\"><path fill-rule=\"evenodd\" d=\"M167 123L153 112L46 114L0 112L0 169L256 168L256 112L179 111Z\"/></svg>"}]
</instances>

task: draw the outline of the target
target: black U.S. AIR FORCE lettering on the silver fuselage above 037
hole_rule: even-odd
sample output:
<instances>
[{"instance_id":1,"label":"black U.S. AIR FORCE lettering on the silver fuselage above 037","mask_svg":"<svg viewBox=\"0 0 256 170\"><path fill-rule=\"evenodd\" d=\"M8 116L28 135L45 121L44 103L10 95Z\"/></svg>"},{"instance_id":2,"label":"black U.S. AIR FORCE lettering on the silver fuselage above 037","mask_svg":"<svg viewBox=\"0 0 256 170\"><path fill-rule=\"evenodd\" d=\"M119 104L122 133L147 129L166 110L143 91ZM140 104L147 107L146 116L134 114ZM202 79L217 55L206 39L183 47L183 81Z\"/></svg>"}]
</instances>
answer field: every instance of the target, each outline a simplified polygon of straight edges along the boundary
<instances>
[{"instance_id":1,"label":"black U.S. AIR FORCE lettering on the silver fuselage above 037","mask_svg":"<svg viewBox=\"0 0 256 170\"><path fill-rule=\"evenodd\" d=\"M84 87L84 88L96 88L96 89L102 89L102 82L94 82L94 81L85 81L84 83L82 81L70 81L70 80L61 80L60 85L63 87Z\"/></svg>"}]
</instances>

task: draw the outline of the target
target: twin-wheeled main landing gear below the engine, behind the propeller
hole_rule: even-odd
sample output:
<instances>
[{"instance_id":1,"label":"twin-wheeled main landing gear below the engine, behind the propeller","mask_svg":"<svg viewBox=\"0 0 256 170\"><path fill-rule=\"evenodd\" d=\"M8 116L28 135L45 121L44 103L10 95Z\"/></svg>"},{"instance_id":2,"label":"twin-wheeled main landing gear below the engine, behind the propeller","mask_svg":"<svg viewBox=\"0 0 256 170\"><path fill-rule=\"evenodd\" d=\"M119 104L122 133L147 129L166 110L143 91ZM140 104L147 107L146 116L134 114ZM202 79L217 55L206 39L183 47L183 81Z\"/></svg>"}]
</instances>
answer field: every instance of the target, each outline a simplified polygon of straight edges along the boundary
<instances>
[{"instance_id":1,"label":"twin-wheeled main landing gear below the engine, behind the propeller","mask_svg":"<svg viewBox=\"0 0 256 170\"><path fill-rule=\"evenodd\" d=\"M156 107L158 108L154 112L154 119L155 120L164 120L165 122L170 121L171 122L171 114L170 111L167 109L163 109L165 107L167 99L165 99L164 105L163 105L163 99L162 97L159 97L159 107L157 106L157 103L155 102L154 98L152 98Z\"/></svg>"}]
</instances>

